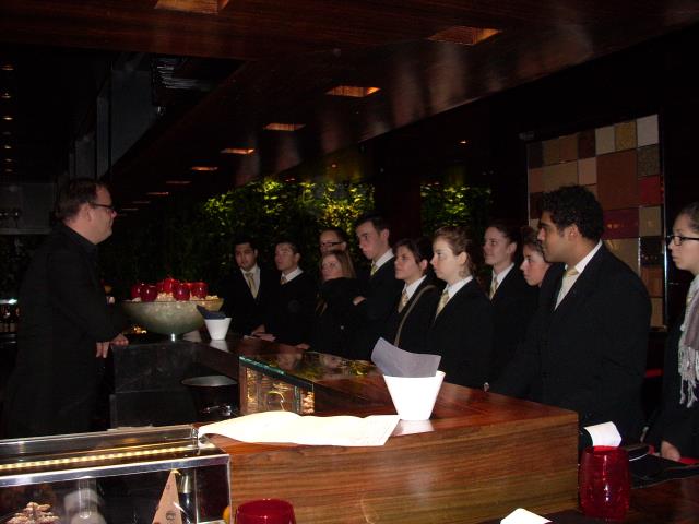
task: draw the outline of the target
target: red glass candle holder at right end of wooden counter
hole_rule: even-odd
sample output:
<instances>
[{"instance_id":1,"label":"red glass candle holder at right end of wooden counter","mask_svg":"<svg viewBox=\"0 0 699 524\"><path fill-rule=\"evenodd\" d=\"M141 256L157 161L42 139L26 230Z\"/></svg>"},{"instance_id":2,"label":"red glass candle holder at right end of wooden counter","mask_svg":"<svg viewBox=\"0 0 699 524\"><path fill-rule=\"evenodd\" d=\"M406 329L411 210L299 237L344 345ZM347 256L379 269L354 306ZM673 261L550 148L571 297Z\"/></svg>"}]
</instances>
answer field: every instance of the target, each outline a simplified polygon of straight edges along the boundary
<instances>
[{"instance_id":1,"label":"red glass candle holder at right end of wooden counter","mask_svg":"<svg viewBox=\"0 0 699 524\"><path fill-rule=\"evenodd\" d=\"M629 509L629 456L621 448L593 445L580 458L580 508L587 516L621 521Z\"/></svg>"}]
</instances>

